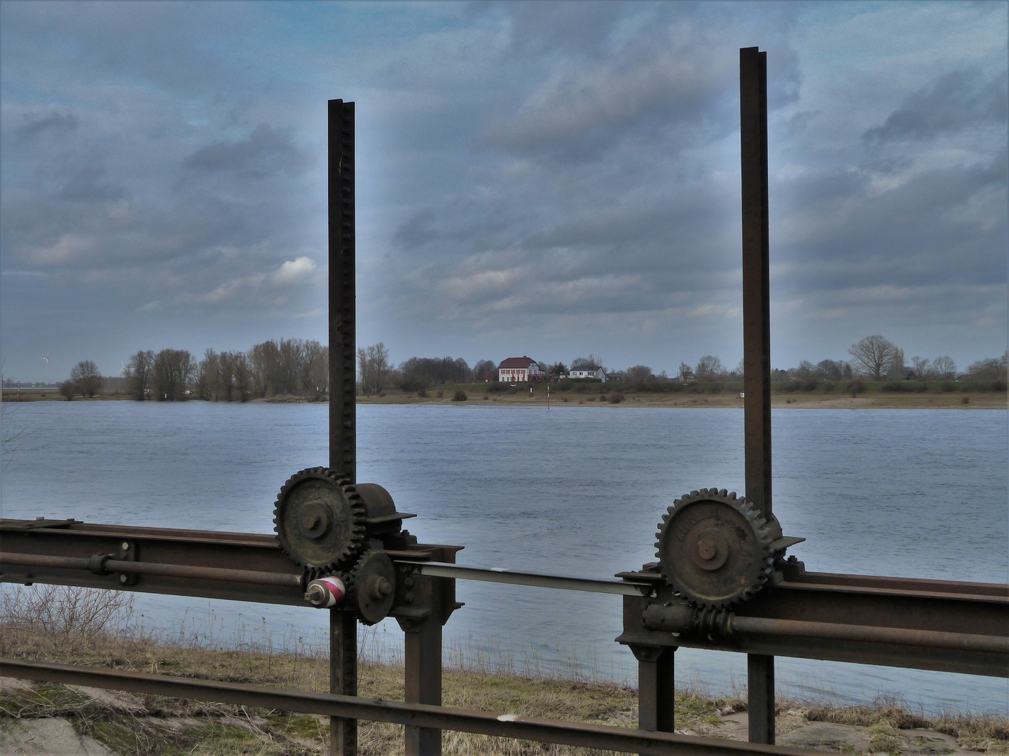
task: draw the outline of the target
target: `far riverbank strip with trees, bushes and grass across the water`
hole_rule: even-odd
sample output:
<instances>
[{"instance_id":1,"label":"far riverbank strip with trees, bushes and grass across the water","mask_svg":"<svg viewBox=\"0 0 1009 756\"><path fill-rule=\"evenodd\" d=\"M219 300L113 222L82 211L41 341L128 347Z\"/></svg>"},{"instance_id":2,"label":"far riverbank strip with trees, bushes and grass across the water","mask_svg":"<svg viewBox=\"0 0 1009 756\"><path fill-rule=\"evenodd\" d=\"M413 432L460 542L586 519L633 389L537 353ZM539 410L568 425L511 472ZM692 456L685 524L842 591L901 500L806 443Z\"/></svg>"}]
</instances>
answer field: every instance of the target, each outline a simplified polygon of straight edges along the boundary
<instances>
[{"instance_id":1,"label":"far riverbank strip with trees, bushes and grass across the water","mask_svg":"<svg viewBox=\"0 0 1009 756\"><path fill-rule=\"evenodd\" d=\"M786 395L778 403L822 404L817 397L832 400L849 396L871 398L873 394L919 394L918 400L887 400L855 402L858 405L945 406L950 399L937 399L943 394L1004 394L1006 391L1009 352L998 358L986 358L972 363L966 373L958 373L957 365L947 356L934 359L912 357L911 367L904 353L882 336L869 336L849 350L850 360L821 360L815 365L803 360L795 368L771 371L773 393ZM572 360L571 370L590 368L604 370L605 381L589 378L569 379L569 368L562 362L538 363L542 380L533 383L509 384L498 381L496 363L480 360L472 368L462 358L411 357L394 366L388 350L382 343L357 350L356 389L367 400L389 401L434 400L441 393L462 401L463 395L475 399L498 400L516 394L532 397L545 393L545 385L559 395L562 402L570 401L566 393L587 394L581 403L600 400L609 404L624 403L628 397L646 404L682 405L684 397L704 397L687 400L688 405L724 405L723 397L738 395L744 389L742 361L730 370L713 355L704 355L696 365L681 362L676 374L665 371L656 374L648 365L633 365L626 370L602 368L602 359L594 355ZM14 387L4 381L5 398L132 398L136 400L183 401L325 401L329 392L329 349L317 341L279 339L266 341L248 352L215 352L208 349L202 360L186 350L164 349L156 354L138 351L124 365L118 378L103 378L90 360L78 363L71 378L59 384L55 394L51 387ZM11 392L11 388L15 388ZM11 396L13 393L13 397ZM490 395L488 397L488 395ZM598 395L598 396L596 396ZM791 398L789 398L790 395ZM604 398L603 398L604 397ZM722 397L712 402L710 397ZM963 404L970 404L965 396ZM983 398L987 398L984 397ZM827 403L832 403L827 401ZM989 402L985 402L989 403ZM852 404L849 402L849 404ZM732 405L732 402L728 402Z\"/></svg>"}]
</instances>

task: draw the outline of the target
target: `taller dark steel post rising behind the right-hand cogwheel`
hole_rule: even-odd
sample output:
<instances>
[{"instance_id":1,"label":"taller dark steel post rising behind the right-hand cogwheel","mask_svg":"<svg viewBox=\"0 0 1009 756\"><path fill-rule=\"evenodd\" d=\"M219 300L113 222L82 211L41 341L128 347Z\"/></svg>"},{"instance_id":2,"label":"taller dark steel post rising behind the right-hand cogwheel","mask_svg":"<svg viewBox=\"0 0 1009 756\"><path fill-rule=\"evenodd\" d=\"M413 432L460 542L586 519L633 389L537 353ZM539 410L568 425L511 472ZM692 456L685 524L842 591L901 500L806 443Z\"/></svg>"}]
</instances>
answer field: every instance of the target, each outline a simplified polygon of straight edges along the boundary
<instances>
[{"instance_id":1,"label":"taller dark steel post rising behind the right-hand cogwheel","mask_svg":"<svg viewBox=\"0 0 1009 756\"><path fill-rule=\"evenodd\" d=\"M747 498L771 517L771 303L767 53L740 50L743 177L743 370ZM750 742L774 743L774 657L750 655Z\"/></svg>"}]
</instances>

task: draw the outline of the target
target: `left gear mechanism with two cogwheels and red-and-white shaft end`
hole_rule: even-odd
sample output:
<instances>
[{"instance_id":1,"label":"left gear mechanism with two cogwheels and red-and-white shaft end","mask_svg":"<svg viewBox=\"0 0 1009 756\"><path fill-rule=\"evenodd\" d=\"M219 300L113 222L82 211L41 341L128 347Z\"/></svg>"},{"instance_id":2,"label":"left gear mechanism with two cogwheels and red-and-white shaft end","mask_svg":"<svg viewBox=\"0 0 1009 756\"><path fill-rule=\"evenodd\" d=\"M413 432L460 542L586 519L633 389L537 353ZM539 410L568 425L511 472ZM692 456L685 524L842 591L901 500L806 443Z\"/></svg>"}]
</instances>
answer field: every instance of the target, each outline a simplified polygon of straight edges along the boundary
<instances>
[{"instance_id":1,"label":"left gear mechanism with two cogwheels and red-and-white shaft end","mask_svg":"<svg viewBox=\"0 0 1009 756\"><path fill-rule=\"evenodd\" d=\"M277 494L273 525L285 556L304 571L307 602L374 625L396 600L396 565L385 549L417 542L403 529L415 516L396 511L375 483L353 486L329 468L308 468Z\"/></svg>"}]
</instances>

